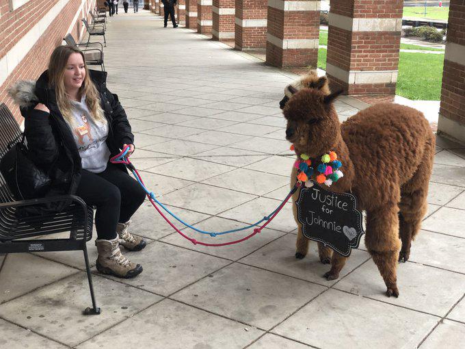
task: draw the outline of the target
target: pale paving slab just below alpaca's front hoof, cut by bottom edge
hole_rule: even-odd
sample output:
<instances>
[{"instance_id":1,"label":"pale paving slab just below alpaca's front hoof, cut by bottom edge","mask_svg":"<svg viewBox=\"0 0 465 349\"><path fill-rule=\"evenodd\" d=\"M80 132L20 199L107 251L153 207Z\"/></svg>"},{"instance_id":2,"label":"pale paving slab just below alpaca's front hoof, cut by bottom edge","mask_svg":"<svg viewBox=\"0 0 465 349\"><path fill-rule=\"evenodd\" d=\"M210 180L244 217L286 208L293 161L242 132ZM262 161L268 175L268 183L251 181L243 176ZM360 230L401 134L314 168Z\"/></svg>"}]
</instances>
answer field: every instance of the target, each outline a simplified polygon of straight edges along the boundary
<instances>
[{"instance_id":1,"label":"pale paving slab just below alpaca's front hoof, cut by bottom edge","mask_svg":"<svg viewBox=\"0 0 465 349\"><path fill-rule=\"evenodd\" d=\"M272 332L317 348L415 348L439 320L329 289Z\"/></svg>"}]
</instances>

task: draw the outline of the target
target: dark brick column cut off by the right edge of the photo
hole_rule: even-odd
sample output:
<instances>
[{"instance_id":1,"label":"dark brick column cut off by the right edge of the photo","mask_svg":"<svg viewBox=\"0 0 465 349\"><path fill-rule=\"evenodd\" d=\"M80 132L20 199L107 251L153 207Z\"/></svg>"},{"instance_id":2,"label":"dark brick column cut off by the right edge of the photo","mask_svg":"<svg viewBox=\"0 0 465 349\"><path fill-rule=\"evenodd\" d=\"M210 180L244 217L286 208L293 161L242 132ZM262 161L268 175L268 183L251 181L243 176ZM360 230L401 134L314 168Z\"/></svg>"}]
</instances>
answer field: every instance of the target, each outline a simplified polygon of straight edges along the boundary
<instances>
[{"instance_id":1,"label":"dark brick column cut off by the right edge of the photo","mask_svg":"<svg viewBox=\"0 0 465 349\"><path fill-rule=\"evenodd\" d=\"M465 144L465 2L451 0L449 6L438 134Z\"/></svg>"}]
</instances>

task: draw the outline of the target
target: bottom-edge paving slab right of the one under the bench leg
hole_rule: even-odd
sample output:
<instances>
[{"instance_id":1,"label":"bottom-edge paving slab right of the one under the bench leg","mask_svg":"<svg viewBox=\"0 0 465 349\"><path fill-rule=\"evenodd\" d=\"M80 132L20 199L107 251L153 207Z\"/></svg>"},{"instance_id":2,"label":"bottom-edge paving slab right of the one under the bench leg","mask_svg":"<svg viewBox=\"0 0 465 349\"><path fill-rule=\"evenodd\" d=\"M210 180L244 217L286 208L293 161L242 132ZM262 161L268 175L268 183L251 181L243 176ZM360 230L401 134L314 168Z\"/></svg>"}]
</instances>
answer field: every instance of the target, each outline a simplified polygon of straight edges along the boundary
<instances>
[{"instance_id":1,"label":"bottom-edge paving slab right of the one under the bench leg","mask_svg":"<svg viewBox=\"0 0 465 349\"><path fill-rule=\"evenodd\" d=\"M131 328L131 335L127 335ZM81 344L92 348L244 348L263 331L220 316L163 300Z\"/></svg>"}]
</instances>

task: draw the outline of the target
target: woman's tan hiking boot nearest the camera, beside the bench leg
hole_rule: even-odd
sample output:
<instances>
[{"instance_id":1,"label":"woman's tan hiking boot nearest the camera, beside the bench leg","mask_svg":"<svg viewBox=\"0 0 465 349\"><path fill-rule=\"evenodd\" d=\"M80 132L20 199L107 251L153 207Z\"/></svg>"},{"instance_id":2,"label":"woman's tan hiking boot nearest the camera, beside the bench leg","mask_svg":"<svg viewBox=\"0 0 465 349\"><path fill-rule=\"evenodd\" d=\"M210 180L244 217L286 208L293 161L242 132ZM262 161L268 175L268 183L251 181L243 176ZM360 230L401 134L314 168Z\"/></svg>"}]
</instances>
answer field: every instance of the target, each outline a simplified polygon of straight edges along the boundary
<instances>
[{"instance_id":1,"label":"woman's tan hiking boot nearest the camera, beside the bench leg","mask_svg":"<svg viewBox=\"0 0 465 349\"><path fill-rule=\"evenodd\" d=\"M98 272L124 279L133 278L142 272L140 264L135 264L122 255L118 237L114 240L96 240L95 245L98 251Z\"/></svg>"}]
</instances>

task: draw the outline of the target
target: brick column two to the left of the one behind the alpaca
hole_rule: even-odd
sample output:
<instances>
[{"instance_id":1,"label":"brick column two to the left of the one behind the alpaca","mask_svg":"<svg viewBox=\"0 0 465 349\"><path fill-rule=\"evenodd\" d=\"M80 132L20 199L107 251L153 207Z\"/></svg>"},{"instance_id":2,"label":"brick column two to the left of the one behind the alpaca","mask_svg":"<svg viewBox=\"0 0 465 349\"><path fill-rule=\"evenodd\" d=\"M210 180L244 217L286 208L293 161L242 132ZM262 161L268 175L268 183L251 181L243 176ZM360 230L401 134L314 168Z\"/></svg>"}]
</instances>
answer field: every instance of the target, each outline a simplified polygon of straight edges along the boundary
<instances>
[{"instance_id":1,"label":"brick column two to the left of the one behind the alpaca","mask_svg":"<svg viewBox=\"0 0 465 349\"><path fill-rule=\"evenodd\" d=\"M235 49L267 45L267 0L235 0Z\"/></svg>"}]
</instances>

